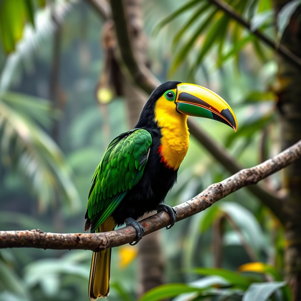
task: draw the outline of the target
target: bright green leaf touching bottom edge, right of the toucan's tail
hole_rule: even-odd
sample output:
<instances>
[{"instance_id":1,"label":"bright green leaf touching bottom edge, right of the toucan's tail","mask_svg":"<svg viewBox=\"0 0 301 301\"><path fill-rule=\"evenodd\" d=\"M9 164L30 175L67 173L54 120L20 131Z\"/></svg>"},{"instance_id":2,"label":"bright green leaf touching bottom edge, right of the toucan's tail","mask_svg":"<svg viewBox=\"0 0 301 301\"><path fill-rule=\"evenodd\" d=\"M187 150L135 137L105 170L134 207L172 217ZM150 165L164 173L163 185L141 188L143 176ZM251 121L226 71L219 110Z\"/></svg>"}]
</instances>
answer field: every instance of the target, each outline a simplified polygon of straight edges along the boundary
<instances>
[{"instance_id":1,"label":"bright green leaf touching bottom edge, right of the toucan's tail","mask_svg":"<svg viewBox=\"0 0 301 301\"><path fill-rule=\"evenodd\" d=\"M182 293L202 292L203 290L183 283L163 284L147 291L139 301L159 301Z\"/></svg>"}]
</instances>

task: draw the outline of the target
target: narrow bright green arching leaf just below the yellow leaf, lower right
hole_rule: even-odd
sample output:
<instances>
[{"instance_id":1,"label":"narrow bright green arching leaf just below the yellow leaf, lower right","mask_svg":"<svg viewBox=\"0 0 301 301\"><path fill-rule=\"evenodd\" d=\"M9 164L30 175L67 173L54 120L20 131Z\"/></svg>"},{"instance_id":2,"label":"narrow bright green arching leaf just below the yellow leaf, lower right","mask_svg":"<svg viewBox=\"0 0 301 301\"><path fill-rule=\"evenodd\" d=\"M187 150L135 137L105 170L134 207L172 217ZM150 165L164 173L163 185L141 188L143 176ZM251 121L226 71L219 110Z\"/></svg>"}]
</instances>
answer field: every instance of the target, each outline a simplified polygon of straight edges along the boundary
<instances>
[{"instance_id":1,"label":"narrow bright green arching leaf just below the yellow leaf, lower right","mask_svg":"<svg viewBox=\"0 0 301 301\"><path fill-rule=\"evenodd\" d=\"M246 289L253 282L251 279L244 277L236 272L232 272L222 268L194 268L192 271L200 275L221 276L228 280L231 284L242 289Z\"/></svg>"}]
</instances>

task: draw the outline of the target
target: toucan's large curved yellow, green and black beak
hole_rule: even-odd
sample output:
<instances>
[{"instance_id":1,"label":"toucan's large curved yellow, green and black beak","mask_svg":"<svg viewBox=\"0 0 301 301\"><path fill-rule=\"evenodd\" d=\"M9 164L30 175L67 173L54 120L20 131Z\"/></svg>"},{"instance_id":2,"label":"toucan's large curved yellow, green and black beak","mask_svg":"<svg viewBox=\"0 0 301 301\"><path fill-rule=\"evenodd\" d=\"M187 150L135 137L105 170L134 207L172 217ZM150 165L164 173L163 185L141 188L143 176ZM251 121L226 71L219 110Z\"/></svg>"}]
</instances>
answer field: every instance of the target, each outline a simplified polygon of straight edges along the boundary
<instances>
[{"instance_id":1,"label":"toucan's large curved yellow, green and black beak","mask_svg":"<svg viewBox=\"0 0 301 301\"><path fill-rule=\"evenodd\" d=\"M202 86L181 83L175 99L177 111L190 116L214 119L231 126L236 132L237 120L231 107L219 95Z\"/></svg>"}]
</instances>

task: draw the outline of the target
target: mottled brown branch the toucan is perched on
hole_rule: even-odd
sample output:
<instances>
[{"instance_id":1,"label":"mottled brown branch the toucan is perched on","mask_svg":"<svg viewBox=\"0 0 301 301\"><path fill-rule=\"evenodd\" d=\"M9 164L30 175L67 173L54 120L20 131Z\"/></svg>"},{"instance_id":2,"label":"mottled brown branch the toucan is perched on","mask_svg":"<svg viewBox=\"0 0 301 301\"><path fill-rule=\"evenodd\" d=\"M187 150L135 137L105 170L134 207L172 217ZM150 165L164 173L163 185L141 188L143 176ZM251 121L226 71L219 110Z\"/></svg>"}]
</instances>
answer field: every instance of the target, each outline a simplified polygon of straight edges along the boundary
<instances>
[{"instance_id":1,"label":"mottled brown branch the toucan is perched on","mask_svg":"<svg viewBox=\"0 0 301 301\"><path fill-rule=\"evenodd\" d=\"M272 159L257 166L240 170L240 172L222 182L210 185L196 197L174 207L177 212L177 222L207 209L216 201L240 188L257 184L257 182L290 165L300 157L301 140ZM170 225L170 222L167 213L159 212L143 219L141 225L144 229L144 235L147 235ZM135 238L136 230L132 226L94 234L57 234L45 233L40 230L0 231L0 249L32 247L55 250L80 249L98 252L130 243Z\"/></svg>"}]
</instances>

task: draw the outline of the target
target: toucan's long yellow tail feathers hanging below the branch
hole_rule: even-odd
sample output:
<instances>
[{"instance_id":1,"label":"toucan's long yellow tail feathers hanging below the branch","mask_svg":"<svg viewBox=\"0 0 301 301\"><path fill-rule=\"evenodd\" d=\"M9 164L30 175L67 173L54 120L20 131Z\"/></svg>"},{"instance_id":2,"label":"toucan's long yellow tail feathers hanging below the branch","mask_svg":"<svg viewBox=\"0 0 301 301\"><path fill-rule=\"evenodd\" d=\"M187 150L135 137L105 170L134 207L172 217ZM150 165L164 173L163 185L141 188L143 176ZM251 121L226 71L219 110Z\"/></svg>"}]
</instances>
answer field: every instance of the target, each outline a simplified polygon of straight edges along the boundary
<instances>
[{"instance_id":1,"label":"toucan's long yellow tail feathers hanging below the branch","mask_svg":"<svg viewBox=\"0 0 301 301\"><path fill-rule=\"evenodd\" d=\"M112 231L115 222L112 217L108 217L98 228L97 232ZM111 249L101 252L93 252L90 277L89 277L89 298L94 301L101 297L107 297L110 293L110 264Z\"/></svg>"}]
</instances>

